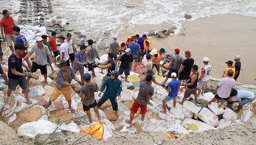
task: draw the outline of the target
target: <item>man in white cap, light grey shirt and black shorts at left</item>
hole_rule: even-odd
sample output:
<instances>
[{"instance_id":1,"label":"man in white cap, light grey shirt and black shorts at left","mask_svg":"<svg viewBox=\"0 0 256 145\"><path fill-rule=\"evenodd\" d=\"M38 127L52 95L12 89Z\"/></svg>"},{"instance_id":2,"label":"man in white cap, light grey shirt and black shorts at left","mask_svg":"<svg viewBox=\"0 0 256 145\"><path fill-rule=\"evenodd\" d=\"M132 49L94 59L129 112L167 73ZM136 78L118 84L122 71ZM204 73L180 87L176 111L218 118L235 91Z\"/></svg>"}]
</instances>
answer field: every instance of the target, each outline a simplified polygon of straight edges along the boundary
<instances>
[{"instance_id":1,"label":"man in white cap, light grey shirt and black shorts at left","mask_svg":"<svg viewBox=\"0 0 256 145\"><path fill-rule=\"evenodd\" d=\"M50 59L50 64L52 63L52 56L47 45L43 44L42 37L36 37L35 47L24 57L24 60L28 60L34 52L35 60L32 63L31 73L35 73L37 69L40 69L41 74L44 76L44 83L47 83L47 56ZM30 78L28 77L28 82L29 80Z\"/></svg>"}]
</instances>

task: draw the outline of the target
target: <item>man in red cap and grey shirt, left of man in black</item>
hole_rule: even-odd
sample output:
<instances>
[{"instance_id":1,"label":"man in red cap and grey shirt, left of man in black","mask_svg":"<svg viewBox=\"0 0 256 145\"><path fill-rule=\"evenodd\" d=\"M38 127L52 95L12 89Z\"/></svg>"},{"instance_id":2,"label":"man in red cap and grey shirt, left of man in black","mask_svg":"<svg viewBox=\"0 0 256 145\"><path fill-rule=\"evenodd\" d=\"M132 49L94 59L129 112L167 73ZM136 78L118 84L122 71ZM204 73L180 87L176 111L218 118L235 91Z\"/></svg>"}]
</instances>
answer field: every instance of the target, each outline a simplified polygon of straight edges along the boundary
<instances>
[{"instance_id":1,"label":"man in red cap and grey shirt, left of man in black","mask_svg":"<svg viewBox=\"0 0 256 145\"><path fill-rule=\"evenodd\" d=\"M171 61L168 64L168 67L170 67L170 70L168 71L167 76L164 79L164 84L167 82L168 78L171 77L172 73L176 73L178 74L178 69L180 69L181 67L181 63L182 63L182 57L178 54L180 54L180 49L176 48L174 49L174 53L175 55L171 57Z\"/></svg>"}]
</instances>

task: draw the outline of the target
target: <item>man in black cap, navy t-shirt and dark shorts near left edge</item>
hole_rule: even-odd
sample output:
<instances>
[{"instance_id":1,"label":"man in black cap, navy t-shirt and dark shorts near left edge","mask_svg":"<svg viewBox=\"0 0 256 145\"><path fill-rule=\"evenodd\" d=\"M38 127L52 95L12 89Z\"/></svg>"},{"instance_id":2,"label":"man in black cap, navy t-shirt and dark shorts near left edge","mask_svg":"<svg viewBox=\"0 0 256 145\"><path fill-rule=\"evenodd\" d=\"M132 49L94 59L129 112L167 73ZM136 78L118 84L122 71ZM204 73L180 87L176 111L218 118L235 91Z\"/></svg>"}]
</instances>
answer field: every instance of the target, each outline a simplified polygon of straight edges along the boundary
<instances>
[{"instance_id":1,"label":"man in black cap, navy t-shirt and dark shorts near left edge","mask_svg":"<svg viewBox=\"0 0 256 145\"><path fill-rule=\"evenodd\" d=\"M28 65L22 62L22 54L27 48L24 47L23 44L18 43L14 45L14 53L10 55L8 58L8 90L7 96L11 96L11 92L16 90L16 87L20 85L25 94L25 98L27 99L27 103L31 104L32 101L28 96L28 82L26 77L30 77L30 74L23 74L22 66L29 70Z\"/></svg>"}]
</instances>

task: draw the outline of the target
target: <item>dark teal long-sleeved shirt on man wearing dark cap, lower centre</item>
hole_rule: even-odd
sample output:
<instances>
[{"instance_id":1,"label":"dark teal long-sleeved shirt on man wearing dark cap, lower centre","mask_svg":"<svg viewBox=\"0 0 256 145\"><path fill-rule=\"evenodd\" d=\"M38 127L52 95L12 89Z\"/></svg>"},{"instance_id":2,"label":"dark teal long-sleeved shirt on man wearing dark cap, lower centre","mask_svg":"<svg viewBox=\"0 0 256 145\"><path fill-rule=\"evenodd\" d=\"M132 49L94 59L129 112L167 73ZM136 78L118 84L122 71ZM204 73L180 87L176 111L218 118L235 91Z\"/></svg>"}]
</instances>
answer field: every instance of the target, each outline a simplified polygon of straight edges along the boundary
<instances>
[{"instance_id":1,"label":"dark teal long-sleeved shirt on man wearing dark cap, lower centre","mask_svg":"<svg viewBox=\"0 0 256 145\"><path fill-rule=\"evenodd\" d=\"M104 94L116 98L121 94L122 82L118 78L116 78L115 82L112 81L111 78L107 78L107 80L101 86L100 91L103 91L105 87L106 91Z\"/></svg>"}]
</instances>

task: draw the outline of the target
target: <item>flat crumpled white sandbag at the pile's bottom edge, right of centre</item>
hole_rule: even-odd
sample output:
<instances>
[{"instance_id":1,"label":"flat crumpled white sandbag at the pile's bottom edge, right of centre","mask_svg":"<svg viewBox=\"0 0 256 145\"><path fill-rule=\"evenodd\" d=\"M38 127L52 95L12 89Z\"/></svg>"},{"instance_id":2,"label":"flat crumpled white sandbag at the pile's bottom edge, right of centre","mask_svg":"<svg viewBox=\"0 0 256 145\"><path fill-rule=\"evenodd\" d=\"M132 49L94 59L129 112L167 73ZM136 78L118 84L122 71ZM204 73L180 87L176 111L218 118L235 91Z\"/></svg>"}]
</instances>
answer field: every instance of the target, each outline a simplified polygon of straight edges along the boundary
<instances>
[{"instance_id":1,"label":"flat crumpled white sandbag at the pile's bottom edge, right of centre","mask_svg":"<svg viewBox=\"0 0 256 145\"><path fill-rule=\"evenodd\" d=\"M212 127L209 124L203 123L201 121L193 120L191 118L185 118L183 120L182 126L184 127L184 126L189 125L189 124L195 124L197 126L198 130L196 130L196 132L202 132L202 131L205 131L205 130L216 129L215 127Z\"/></svg>"}]
</instances>

